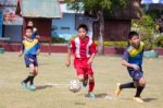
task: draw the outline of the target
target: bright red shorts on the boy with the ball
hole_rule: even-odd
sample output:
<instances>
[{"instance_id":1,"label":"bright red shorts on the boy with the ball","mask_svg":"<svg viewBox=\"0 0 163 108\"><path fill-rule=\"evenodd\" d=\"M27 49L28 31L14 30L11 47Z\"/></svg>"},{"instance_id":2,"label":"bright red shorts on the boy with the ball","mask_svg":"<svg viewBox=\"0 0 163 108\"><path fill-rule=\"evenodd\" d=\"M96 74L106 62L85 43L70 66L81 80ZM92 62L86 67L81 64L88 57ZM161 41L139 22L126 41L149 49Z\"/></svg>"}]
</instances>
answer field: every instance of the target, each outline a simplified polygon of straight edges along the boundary
<instances>
[{"instance_id":1,"label":"bright red shorts on the boy with the ball","mask_svg":"<svg viewBox=\"0 0 163 108\"><path fill-rule=\"evenodd\" d=\"M78 59L74 60L74 67L76 69L77 75L93 75L91 65L88 65L89 59Z\"/></svg>"}]
</instances>

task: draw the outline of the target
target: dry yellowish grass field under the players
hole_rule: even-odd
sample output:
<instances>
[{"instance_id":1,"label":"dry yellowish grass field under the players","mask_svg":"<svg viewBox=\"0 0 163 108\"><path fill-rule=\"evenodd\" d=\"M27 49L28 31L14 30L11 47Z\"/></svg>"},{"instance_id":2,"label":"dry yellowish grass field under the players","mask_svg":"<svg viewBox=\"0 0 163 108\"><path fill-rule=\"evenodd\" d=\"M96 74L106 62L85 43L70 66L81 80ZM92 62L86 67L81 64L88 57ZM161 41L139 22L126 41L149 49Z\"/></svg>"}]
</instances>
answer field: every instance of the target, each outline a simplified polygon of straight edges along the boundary
<instances>
[{"instance_id":1,"label":"dry yellowish grass field under the players","mask_svg":"<svg viewBox=\"0 0 163 108\"><path fill-rule=\"evenodd\" d=\"M35 80L36 92L21 87L27 69L17 53L0 55L0 108L163 108L163 58L145 59L143 71L147 87L142 93L145 104L133 100L135 89L125 89L117 98L114 89L117 82L131 79L121 65L121 57L97 57L93 62L96 99L86 97L87 88L73 94L68 91L70 80L76 79L73 65L65 68L65 55L40 53L39 75ZM112 99L105 99L109 95Z\"/></svg>"}]
</instances>

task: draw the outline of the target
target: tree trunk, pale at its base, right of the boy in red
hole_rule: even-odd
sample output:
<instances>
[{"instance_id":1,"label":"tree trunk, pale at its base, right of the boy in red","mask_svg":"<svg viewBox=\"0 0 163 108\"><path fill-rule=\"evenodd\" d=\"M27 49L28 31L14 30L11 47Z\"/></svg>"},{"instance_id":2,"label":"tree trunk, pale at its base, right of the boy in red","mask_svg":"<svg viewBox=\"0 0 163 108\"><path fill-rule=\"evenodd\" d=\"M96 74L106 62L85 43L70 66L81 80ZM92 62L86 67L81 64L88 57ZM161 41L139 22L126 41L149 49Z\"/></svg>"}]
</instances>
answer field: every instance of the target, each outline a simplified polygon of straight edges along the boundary
<instances>
[{"instance_id":1,"label":"tree trunk, pale at its base, right of the boy in red","mask_svg":"<svg viewBox=\"0 0 163 108\"><path fill-rule=\"evenodd\" d=\"M99 38L98 38L98 53L99 55L104 55L104 41L103 41L104 17L103 17L103 10L100 10L97 15L98 15L98 19L99 19L99 24L100 24L100 33L99 33Z\"/></svg>"}]
</instances>

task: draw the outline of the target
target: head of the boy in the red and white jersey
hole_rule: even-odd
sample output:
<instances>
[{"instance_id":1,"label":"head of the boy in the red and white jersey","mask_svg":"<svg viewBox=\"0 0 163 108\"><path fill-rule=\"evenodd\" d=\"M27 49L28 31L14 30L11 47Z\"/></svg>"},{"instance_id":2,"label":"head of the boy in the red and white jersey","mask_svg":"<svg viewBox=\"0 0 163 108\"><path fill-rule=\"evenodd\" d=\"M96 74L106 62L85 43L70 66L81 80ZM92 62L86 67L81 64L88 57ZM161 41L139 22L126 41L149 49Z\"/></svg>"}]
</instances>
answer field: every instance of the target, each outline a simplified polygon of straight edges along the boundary
<instances>
[{"instance_id":1,"label":"head of the boy in the red and white jersey","mask_svg":"<svg viewBox=\"0 0 163 108\"><path fill-rule=\"evenodd\" d=\"M88 33L88 27L85 24L80 24L77 28L78 36L85 38Z\"/></svg>"}]
</instances>

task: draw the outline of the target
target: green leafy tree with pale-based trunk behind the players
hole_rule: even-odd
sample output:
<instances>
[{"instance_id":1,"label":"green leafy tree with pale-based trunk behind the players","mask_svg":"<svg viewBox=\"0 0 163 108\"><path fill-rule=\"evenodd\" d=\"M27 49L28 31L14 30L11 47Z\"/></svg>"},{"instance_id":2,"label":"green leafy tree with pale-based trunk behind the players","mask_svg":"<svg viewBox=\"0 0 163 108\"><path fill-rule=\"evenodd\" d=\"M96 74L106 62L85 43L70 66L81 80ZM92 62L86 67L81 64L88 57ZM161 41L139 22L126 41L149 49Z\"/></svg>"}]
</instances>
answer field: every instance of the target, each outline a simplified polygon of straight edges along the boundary
<instances>
[{"instance_id":1,"label":"green leafy tree with pale-based trunk behind the players","mask_svg":"<svg viewBox=\"0 0 163 108\"><path fill-rule=\"evenodd\" d=\"M100 24L100 33L98 39L99 55L104 53L104 14L112 14L115 10L126 5L128 0L65 0L70 9L76 11L85 11L96 16Z\"/></svg>"}]
</instances>

